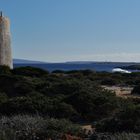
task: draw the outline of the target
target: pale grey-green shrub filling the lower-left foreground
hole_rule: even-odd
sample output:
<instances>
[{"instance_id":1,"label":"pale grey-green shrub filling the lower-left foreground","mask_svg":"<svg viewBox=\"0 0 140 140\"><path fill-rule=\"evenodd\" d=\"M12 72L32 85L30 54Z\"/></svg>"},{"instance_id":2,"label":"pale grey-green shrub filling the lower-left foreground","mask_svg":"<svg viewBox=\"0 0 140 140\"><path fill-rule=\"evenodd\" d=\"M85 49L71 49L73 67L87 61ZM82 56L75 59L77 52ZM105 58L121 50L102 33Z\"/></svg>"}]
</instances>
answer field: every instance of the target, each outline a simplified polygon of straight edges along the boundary
<instances>
[{"instance_id":1,"label":"pale grey-green shrub filling the lower-left foreground","mask_svg":"<svg viewBox=\"0 0 140 140\"><path fill-rule=\"evenodd\" d=\"M81 128L67 120L37 116L13 116L0 119L1 140L57 140L63 134L79 135Z\"/></svg>"}]
</instances>

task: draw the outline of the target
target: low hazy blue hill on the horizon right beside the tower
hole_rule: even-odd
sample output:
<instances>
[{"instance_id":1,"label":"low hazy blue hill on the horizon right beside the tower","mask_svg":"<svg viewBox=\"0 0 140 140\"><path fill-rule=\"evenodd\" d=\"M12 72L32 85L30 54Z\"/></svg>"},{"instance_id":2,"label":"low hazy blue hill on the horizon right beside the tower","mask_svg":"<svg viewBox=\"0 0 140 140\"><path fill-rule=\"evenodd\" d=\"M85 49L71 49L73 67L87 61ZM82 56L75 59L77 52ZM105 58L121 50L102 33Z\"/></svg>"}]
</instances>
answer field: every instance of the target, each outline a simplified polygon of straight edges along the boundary
<instances>
[{"instance_id":1,"label":"low hazy blue hill on the horizon right beside the tower","mask_svg":"<svg viewBox=\"0 0 140 140\"><path fill-rule=\"evenodd\" d=\"M45 63L45 62L25 60L25 59L13 59L13 63L14 64L40 64L40 63Z\"/></svg>"}]
</instances>

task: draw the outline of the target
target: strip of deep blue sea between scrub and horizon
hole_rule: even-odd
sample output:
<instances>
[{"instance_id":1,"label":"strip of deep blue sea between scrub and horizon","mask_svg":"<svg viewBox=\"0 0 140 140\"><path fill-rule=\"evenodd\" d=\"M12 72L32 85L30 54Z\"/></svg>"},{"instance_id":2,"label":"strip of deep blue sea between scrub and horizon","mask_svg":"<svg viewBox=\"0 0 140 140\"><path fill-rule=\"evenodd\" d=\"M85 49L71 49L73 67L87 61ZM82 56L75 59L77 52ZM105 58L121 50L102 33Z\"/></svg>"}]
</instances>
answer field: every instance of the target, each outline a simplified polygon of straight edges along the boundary
<instances>
[{"instance_id":1,"label":"strip of deep blue sea between scrub and horizon","mask_svg":"<svg viewBox=\"0 0 140 140\"><path fill-rule=\"evenodd\" d=\"M112 72L113 68L121 67L121 66L129 66L136 63L106 63L106 62L94 62L94 63L43 63L43 64L14 64L14 67L21 67L21 66L32 66L42 68L48 71L54 70L95 70L95 71L107 71ZM138 63L137 63L138 64Z\"/></svg>"}]
</instances>

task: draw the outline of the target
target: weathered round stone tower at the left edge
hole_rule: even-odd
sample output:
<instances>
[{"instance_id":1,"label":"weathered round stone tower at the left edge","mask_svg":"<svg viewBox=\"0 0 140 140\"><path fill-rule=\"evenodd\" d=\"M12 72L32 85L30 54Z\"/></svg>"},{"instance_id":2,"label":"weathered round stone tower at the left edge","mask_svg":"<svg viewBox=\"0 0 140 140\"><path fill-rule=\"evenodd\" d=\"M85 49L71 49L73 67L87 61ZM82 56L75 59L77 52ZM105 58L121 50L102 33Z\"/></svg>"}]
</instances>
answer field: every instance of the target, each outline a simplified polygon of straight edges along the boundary
<instances>
[{"instance_id":1,"label":"weathered round stone tower at the left edge","mask_svg":"<svg viewBox=\"0 0 140 140\"><path fill-rule=\"evenodd\" d=\"M0 12L0 65L13 68L11 51L10 21Z\"/></svg>"}]
</instances>

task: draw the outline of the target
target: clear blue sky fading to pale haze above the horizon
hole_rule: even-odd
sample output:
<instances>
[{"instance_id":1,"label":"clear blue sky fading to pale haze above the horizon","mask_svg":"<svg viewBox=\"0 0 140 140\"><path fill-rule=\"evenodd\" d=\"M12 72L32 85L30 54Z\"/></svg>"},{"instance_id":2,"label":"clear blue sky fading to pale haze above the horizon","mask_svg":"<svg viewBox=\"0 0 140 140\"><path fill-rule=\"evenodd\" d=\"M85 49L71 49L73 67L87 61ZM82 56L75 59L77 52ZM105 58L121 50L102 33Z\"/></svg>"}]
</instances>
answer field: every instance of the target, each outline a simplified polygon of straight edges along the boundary
<instances>
[{"instance_id":1,"label":"clear blue sky fading to pale haze above the horizon","mask_svg":"<svg viewBox=\"0 0 140 140\"><path fill-rule=\"evenodd\" d=\"M140 0L0 0L14 58L140 61Z\"/></svg>"}]
</instances>

